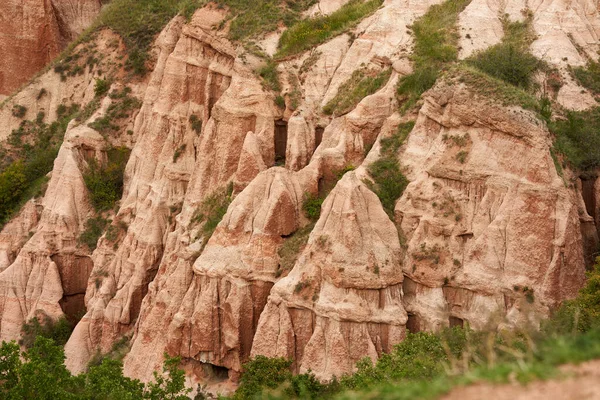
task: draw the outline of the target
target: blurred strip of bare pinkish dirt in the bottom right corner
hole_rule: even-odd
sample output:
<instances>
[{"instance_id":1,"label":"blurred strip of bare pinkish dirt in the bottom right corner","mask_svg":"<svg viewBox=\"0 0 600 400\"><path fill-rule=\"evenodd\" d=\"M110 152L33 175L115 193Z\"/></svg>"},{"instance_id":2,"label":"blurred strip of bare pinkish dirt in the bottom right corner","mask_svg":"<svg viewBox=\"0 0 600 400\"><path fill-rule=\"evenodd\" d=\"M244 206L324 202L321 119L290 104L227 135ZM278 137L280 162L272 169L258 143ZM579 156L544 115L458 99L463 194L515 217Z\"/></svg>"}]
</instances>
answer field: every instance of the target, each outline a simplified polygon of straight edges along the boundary
<instances>
[{"instance_id":1,"label":"blurred strip of bare pinkish dirt in the bottom right corner","mask_svg":"<svg viewBox=\"0 0 600 400\"><path fill-rule=\"evenodd\" d=\"M476 384L453 390L442 400L580 400L600 399L600 360L562 368L563 379L516 384Z\"/></svg>"}]
</instances>

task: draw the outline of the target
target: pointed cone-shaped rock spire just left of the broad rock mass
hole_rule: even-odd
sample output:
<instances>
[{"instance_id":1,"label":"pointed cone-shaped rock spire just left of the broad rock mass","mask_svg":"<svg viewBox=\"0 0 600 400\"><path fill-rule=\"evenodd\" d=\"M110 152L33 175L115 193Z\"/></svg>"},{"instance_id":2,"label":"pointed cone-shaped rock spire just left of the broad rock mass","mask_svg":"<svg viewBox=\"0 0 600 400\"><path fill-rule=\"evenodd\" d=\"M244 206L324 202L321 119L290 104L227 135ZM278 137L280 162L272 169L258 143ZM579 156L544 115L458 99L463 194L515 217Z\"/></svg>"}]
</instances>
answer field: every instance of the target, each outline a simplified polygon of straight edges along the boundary
<instances>
[{"instance_id":1,"label":"pointed cone-shaped rock spire just left of the broad rock mass","mask_svg":"<svg viewBox=\"0 0 600 400\"><path fill-rule=\"evenodd\" d=\"M404 337L401 248L379 199L355 175L323 204L296 266L277 282L262 313L253 354L295 360L322 379Z\"/></svg>"}]
</instances>

